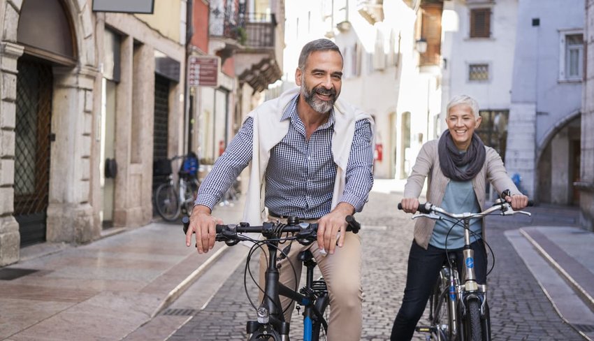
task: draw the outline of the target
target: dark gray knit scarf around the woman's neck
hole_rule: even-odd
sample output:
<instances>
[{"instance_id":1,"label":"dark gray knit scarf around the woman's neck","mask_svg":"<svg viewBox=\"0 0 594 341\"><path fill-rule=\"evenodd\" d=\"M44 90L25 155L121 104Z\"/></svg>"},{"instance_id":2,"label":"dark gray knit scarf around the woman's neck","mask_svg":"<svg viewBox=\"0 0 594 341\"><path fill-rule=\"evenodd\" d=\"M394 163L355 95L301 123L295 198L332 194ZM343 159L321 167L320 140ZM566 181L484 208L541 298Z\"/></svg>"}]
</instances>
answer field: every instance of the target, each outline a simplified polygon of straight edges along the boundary
<instances>
[{"instance_id":1,"label":"dark gray knit scarf around the woman's neck","mask_svg":"<svg viewBox=\"0 0 594 341\"><path fill-rule=\"evenodd\" d=\"M479 173L485 164L485 145L477 133L472 134L472 141L465 153L461 153L449 130L444 131L437 148L440 154L440 168L442 173L451 180L468 181L472 180ZM460 167L468 165L468 168L461 170Z\"/></svg>"}]
</instances>

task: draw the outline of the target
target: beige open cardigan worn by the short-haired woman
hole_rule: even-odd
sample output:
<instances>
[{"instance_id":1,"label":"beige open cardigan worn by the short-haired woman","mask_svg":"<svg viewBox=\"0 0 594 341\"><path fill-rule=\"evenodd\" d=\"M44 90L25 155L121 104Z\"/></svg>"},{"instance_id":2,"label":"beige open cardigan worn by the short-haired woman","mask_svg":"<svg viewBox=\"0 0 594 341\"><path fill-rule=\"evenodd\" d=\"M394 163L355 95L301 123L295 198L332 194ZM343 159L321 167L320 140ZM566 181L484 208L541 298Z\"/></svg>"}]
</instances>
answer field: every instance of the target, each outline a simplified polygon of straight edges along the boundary
<instances>
[{"instance_id":1,"label":"beige open cardigan worn by the short-haired woman","mask_svg":"<svg viewBox=\"0 0 594 341\"><path fill-rule=\"evenodd\" d=\"M419 198L425 178L428 177L427 201L437 206L442 204L449 178L442 173L440 168L440 158L437 154L438 144L439 140L431 140L421 147L421 152L419 152L419 156L416 157L416 161L412 167L412 173L408 177L405 185L405 198ZM521 194L514 182L512 182L512 179L507 175L507 170L505 170L505 166L503 166L503 161L499 154L491 147L485 147L485 150L485 164L477 176L472 179L472 188L475 189L477 201L479 201L481 210L485 210L485 191L487 181L491 182L498 193L505 191L505 189L509 189L512 191L512 195ZM429 245L434 226L435 220L433 219L417 219L416 224L414 225L414 240L416 241L416 244L426 249ZM484 219L482 233L483 238L485 238Z\"/></svg>"}]
</instances>

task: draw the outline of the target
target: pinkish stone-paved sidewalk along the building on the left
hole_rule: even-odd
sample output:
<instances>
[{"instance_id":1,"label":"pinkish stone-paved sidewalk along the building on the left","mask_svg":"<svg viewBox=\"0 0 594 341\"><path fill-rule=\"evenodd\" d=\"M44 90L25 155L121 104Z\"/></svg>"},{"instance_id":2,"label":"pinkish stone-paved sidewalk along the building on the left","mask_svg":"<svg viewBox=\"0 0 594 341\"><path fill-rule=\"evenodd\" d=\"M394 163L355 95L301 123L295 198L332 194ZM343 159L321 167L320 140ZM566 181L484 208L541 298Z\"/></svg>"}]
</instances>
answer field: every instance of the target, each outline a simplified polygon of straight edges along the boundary
<instances>
[{"instance_id":1,"label":"pinkish stone-paved sidewalk along the building on the left","mask_svg":"<svg viewBox=\"0 0 594 341\"><path fill-rule=\"evenodd\" d=\"M215 215L238 222L242 207L217 206ZM217 243L199 255L180 224L164 222L89 245L25 248L19 263L0 269L0 340L121 340L225 251Z\"/></svg>"}]
</instances>

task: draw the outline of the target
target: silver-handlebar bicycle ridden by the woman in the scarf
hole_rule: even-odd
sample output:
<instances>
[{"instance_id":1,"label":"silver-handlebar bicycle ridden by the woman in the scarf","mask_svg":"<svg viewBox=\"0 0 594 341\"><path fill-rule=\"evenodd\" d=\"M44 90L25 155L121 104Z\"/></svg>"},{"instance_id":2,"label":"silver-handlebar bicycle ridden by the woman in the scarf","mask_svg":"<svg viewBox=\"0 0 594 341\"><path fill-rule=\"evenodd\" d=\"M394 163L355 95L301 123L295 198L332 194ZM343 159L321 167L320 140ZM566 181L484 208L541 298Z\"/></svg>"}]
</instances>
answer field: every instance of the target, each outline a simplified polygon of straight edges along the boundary
<instances>
[{"instance_id":1,"label":"silver-handlebar bicycle ridden by the woman in the scarf","mask_svg":"<svg viewBox=\"0 0 594 341\"><path fill-rule=\"evenodd\" d=\"M429 326L416 326L416 331L429 333L427 340L437 341L490 341L491 319L488 312L487 286L478 284L474 268L474 251L470 248L470 220L480 219L487 215L528 215L529 212L514 211L505 201L509 190L504 191L491 208L480 213L454 214L443 210L432 203L419 204L421 214L412 219L426 217L435 220L451 222L450 228L464 229L463 264L456 261L455 252L447 252L440 275L435 283L435 289L429 298ZM529 206L533 203L529 202ZM402 210L402 205L398 204ZM447 239L446 239L447 240ZM488 244L485 242L486 247ZM488 247L491 249L491 247ZM491 251L491 254L493 252ZM494 264L494 262L493 262ZM458 270L462 270L461 277ZM493 266L491 267L491 270ZM489 273L491 272L489 270ZM487 273L488 275L488 273Z\"/></svg>"}]
</instances>

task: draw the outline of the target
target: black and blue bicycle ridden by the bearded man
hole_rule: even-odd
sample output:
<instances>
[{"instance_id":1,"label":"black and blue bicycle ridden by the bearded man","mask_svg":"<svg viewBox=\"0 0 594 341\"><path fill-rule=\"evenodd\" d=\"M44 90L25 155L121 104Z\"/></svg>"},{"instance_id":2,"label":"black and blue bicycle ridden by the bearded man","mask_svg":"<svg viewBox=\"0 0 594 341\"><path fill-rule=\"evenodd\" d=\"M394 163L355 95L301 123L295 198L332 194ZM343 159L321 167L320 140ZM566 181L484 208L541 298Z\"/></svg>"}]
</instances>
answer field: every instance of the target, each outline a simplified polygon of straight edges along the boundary
<instances>
[{"instance_id":1,"label":"black and blue bicycle ridden by the bearded man","mask_svg":"<svg viewBox=\"0 0 594 341\"><path fill-rule=\"evenodd\" d=\"M184 233L189 228L189 218L183 217ZM361 226L354 217L347 216L347 231L358 233ZM217 225L217 241L225 242L226 245L236 245L240 241L253 242L247 255L244 279L249 273L252 280L252 272L249 269L249 260L257 249L263 245L268 248L268 268L266 268L266 284L264 289L259 289L264 293L262 302L256 307L252 298L247 295L249 303L254 307L257 319L247 321L246 331L247 340L255 341L288 341L289 323L284 321L284 311L280 304L280 296L285 296L295 300L298 305L303 306L303 340L317 341L326 340L328 323L326 322L325 312L330 303L328 289L323 277L319 280L313 280L314 268L317 265L314 256L309 250L299 253L298 259L303 261L306 271L305 286L300 290L289 288L279 282L279 270L277 260L287 257L288 249L279 248L279 244L285 241L299 242L302 245L310 245L317 240L317 224L299 222L297 218L289 217L287 224L278 222L266 222L262 226L249 226L247 223L239 225ZM248 235L241 233L261 233L266 239L255 240ZM279 256L277 252L280 252ZM291 264L291 267L293 265ZM247 293L247 285L244 282Z\"/></svg>"}]
</instances>

